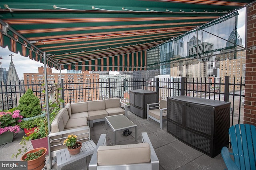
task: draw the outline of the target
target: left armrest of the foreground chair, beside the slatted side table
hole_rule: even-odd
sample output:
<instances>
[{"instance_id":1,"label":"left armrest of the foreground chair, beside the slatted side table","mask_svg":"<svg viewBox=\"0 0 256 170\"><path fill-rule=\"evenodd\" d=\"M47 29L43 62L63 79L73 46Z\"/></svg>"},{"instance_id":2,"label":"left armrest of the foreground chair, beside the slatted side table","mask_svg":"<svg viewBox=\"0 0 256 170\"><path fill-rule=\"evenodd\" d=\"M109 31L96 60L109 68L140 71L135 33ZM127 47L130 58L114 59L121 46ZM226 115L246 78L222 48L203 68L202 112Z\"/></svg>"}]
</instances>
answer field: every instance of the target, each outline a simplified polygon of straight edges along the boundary
<instances>
[{"instance_id":1,"label":"left armrest of the foreground chair, beside the slatted side table","mask_svg":"<svg viewBox=\"0 0 256 170\"><path fill-rule=\"evenodd\" d=\"M92 154L92 158L91 158L91 161L89 163L89 170L97 170L97 164L98 164L97 151L98 151L98 148L100 146L106 146L107 145L106 140L107 140L106 134L101 134L100 139L97 143L97 146L94 150L94 153Z\"/></svg>"}]
</instances>

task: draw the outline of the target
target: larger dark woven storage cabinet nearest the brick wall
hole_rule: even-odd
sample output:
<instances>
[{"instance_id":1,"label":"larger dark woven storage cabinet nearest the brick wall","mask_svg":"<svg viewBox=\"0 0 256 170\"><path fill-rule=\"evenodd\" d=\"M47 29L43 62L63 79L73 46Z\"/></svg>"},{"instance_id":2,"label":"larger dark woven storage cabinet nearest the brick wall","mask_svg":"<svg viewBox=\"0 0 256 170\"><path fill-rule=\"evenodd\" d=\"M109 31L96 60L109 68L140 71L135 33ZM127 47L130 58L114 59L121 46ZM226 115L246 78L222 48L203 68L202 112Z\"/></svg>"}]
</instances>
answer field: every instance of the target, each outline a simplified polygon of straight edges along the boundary
<instances>
[{"instance_id":1,"label":"larger dark woven storage cabinet nearest the brick wall","mask_svg":"<svg viewBox=\"0 0 256 170\"><path fill-rule=\"evenodd\" d=\"M212 158L228 146L230 102L174 96L167 98L167 132Z\"/></svg>"}]
</instances>

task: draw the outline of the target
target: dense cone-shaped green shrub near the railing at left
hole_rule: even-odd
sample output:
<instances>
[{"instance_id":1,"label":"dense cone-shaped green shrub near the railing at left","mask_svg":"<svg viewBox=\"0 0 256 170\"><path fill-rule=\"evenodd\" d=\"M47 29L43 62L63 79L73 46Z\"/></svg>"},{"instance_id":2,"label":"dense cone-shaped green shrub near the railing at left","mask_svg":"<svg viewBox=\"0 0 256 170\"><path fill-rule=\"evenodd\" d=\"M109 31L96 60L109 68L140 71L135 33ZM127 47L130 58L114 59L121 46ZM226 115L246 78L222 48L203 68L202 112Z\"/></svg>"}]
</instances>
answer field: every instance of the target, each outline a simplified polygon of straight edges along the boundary
<instances>
[{"instance_id":1,"label":"dense cone-shaped green shrub near the railing at left","mask_svg":"<svg viewBox=\"0 0 256 170\"><path fill-rule=\"evenodd\" d=\"M17 109L20 110L20 114L23 117L33 117L41 114L40 100L36 97L31 89L20 98L19 106Z\"/></svg>"}]
</instances>

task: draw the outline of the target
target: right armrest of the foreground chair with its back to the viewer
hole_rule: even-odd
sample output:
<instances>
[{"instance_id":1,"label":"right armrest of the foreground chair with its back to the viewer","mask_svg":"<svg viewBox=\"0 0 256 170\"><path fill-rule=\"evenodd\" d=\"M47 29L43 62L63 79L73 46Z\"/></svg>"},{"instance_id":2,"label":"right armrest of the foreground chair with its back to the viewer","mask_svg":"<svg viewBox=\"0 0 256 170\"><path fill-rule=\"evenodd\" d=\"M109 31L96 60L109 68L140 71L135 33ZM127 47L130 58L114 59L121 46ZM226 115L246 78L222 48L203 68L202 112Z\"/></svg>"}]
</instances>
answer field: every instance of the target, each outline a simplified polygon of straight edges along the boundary
<instances>
[{"instance_id":1,"label":"right armrest of the foreground chair with its back to the viewer","mask_svg":"<svg viewBox=\"0 0 256 170\"><path fill-rule=\"evenodd\" d=\"M150 142L148 134L146 132L142 132L141 139L142 139L142 142L148 143L150 145L150 158L152 163L152 170L159 170L159 160L152 146L152 143Z\"/></svg>"}]
</instances>

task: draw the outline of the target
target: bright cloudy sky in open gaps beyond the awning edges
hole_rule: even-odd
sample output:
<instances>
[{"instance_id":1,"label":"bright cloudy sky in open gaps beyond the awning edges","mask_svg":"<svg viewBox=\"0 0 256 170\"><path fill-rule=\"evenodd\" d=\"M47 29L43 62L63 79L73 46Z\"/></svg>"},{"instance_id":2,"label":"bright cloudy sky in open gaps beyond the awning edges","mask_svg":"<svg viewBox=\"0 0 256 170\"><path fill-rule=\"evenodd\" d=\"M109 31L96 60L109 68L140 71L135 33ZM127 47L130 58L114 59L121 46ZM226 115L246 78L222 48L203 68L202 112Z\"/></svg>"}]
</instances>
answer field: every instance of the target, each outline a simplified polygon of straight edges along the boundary
<instances>
[{"instance_id":1,"label":"bright cloudy sky in open gaps beyond the awning edges","mask_svg":"<svg viewBox=\"0 0 256 170\"><path fill-rule=\"evenodd\" d=\"M238 33L242 38L243 45L245 47L245 8L239 10L238 13ZM23 57L19 53L16 54L10 52L8 47L0 47L0 56L2 57L2 59L0 59L0 62L2 63L2 68L6 68L6 70L9 69L11 54L14 55L14 57L12 57L12 61L20 79L24 77L24 73L38 73L38 67L44 65L43 63L31 60L28 57ZM52 72L58 73L59 71L52 68ZM66 73L66 70L62 70L61 72Z\"/></svg>"}]
</instances>

